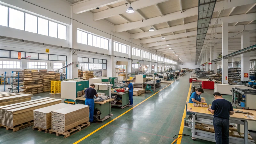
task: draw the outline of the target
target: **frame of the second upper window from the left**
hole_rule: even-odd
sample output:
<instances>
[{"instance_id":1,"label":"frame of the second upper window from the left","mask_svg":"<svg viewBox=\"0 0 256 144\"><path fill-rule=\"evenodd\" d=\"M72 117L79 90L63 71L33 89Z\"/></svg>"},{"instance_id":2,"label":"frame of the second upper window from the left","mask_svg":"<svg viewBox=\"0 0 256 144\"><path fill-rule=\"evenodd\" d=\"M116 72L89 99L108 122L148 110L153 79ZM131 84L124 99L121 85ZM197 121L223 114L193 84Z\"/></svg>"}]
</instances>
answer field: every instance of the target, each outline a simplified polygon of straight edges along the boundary
<instances>
[{"instance_id":1,"label":"frame of the second upper window from the left","mask_svg":"<svg viewBox=\"0 0 256 144\"><path fill-rule=\"evenodd\" d=\"M98 47L98 38L100 38L100 47L98 47L98 48L101 48L101 39L105 39L105 43L104 43L104 48L101 48L101 49L105 49L105 50L108 50L109 49L109 45L108 45L108 48L106 48L106 40L108 40L108 42L109 42L109 39L106 39L106 38L104 38L104 37L101 37L101 36L96 36L96 35L93 35L92 33L88 33L88 32L85 32L85 31L83 31L83 30L80 30L80 29L77 29L77 31L81 31L81 43L79 43L79 44L83 44L83 33L85 33L87 36L87 44L86 45L90 45L90 44L88 44L88 34L90 34L90 35L92 35L92 45L90 45L90 46L93 46L93 47ZM93 44L93 36L96 36L96 46L94 46L94 44ZM77 33L77 43L78 43L78 33Z\"/></svg>"}]
</instances>

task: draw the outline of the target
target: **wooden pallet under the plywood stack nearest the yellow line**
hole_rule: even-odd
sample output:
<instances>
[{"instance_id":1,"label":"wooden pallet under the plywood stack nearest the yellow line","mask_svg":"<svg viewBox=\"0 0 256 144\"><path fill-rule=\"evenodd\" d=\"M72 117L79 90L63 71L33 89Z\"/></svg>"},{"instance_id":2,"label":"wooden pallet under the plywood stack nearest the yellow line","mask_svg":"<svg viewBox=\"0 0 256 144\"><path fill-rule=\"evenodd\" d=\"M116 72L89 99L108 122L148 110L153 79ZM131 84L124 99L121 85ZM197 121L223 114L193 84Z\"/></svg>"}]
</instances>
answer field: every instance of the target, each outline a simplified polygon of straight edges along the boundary
<instances>
[{"instance_id":1,"label":"wooden pallet under the plywood stack nearest the yellow line","mask_svg":"<svg viewBox=\"0 0 256 144\"><path fill-rule=\"evenodd\" d=\"M50 130L49 133L53 133L55 132L56 133L56 136L60 136L60 135L64 135L64 138L67 138L73 134L75 134L76 132L79 132L82 130L82 127L84 127L83 129L87 128L88 126L90 126L91 123L90 122L85 122L83 124L79 124L78 126L66 131L66 132L59 132L59 131L54 131L54 130Z\"/></svg>"}]
</instances>

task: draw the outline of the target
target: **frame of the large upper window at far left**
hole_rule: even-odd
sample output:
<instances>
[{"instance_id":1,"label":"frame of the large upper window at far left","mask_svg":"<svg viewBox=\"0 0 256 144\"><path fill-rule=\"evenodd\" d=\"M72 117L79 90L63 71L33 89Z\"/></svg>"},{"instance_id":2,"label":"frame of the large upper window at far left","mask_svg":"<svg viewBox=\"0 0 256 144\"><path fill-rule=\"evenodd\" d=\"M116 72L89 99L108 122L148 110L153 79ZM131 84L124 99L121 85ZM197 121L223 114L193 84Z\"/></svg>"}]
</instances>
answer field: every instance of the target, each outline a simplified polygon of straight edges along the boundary
<instances>
[{"instance_id":1,"label":"frame of the large upper window at far left","mask_svg":"<svg viewBox=\"0 0 256 144\"><path fill-rule=\"evenodd\" d=\"M8 16L7 16L7 18L8 18L8 19L7 19L8 25L7 25L7 27L9 27L9 28L11 28L11 27L10 27L10 8L13 9L13 10L20 11L20 12L23 12L23 13L24 13L24 28L23 28L24 31L26 31L26 29L25 29L25 28L26 28L26 13L29 14L29 15L35 16L35 17L37 18L37 26L36 26L36 29L37 29L37 30L36 30L36 33L37 33L37 34L38 34L38 18L41 18L41 19L44 19L44 20L48 20L48 19L45 19L45 18L43 18L43 17L34 15L34 14L32 14L32 13L24 12L24 11L21 11L21 10L16 9L16 8L9 7L9 6L7 6L7 5L3 5L3 4L0 4L0 5L8 8ZM52 21L52 20L48 20L48 32L47 32L48 35L47 35L47 36L49 36L49 21L54 22L54 23L57 23L57 38L59 38L59 36L58 36L58 33L59 33L59 29L58 29L59 24L66 27L65 40L67 40L67 25L64 25L64 24L61 24L61 23L59 23L59 22L55 22L55 21ZM15 28L15 29L16 29L16 28ZM27 31L27 32L30 32L30 31ZM34 32L31 32L31 33L34 33ZM43 34L40 34L40 35L43 35ZM44 35L44 36L46 36L46 35ZM51 37L52 37L52 36L51 36ZM56 38L56 37L54 37L54 38ZM60 38L60 39L62 39L62 38Z\"/></svg>"}]
</instances>

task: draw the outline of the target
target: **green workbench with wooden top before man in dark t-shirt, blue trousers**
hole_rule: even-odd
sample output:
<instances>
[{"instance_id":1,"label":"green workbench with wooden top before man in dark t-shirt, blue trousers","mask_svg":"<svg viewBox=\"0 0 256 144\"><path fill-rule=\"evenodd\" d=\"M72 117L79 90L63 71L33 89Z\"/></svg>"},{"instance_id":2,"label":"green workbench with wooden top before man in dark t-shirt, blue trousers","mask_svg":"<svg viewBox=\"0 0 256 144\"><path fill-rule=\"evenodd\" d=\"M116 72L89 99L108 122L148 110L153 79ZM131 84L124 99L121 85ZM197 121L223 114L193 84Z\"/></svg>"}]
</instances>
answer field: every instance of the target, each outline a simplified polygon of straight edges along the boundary
<instances>
[{"instance_id":1,"label":"green workbench with wooden top before man in dark t-shirt, blue trousers","mask_svg":"<svg viewBox=\"0 0 256 144\"><path fill-rule=\"evenodd\" d=\"M76 100L84 100L84 97L78 97ZM94 101L94 114L93 117L97 121L103 122L104 120L108 119L109 117L113 116L111 113L111 101L115 99L108 99L102 102Z\"/></svg>"}]
</instances>

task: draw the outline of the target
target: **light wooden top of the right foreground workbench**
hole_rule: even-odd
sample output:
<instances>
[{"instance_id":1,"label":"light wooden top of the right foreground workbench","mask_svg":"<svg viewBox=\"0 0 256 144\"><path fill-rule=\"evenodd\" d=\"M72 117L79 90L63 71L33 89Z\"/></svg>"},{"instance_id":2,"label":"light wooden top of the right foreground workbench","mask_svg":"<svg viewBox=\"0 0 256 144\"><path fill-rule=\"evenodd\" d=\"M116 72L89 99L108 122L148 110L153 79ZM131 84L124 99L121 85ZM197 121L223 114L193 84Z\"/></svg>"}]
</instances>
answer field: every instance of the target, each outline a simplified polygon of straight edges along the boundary
<instances>
[{"instance_id":1,"label":"light wooden top of the right foreground workbench","mask_svg":"<svg viewBox=\"0 0 256 144\"><path fill-rule=\"evenodd\" d=\"M190 109L191 108L191 109ZM245 117L243 113L234 113L233 115L230 115L230 119L239 119L239 120L247 120L247 121L256 121L256 111L255 110L246 110L246 109L236 109L234 108L234 110L240 110L240 111L244 111L244 112L250 112L253 115L251 116L255 116L254 119L250 119ZM188 103L188 108L187 108L187 112L195 112L195 113L202 113L202 114L209 114L209 115L213 115L208 108L204 108L204 107L194 107L193 103Z\"/></svg>"}]
</instances>

